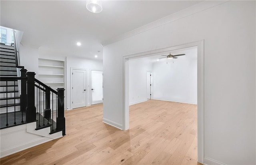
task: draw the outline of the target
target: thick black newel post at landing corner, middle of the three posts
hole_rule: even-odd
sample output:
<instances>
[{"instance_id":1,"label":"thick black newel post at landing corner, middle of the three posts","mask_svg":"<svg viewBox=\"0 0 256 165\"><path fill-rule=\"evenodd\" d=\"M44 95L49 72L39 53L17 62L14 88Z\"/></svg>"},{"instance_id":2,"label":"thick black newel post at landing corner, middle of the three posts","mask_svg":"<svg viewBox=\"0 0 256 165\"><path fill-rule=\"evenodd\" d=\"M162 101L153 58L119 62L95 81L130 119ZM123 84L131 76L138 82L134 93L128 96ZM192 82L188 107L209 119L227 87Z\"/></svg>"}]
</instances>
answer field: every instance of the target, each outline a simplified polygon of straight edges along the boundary
<instances>
[{"instance_id":1,"label":"thick black newel post at landing corner, middle of the three posts","mask_svg":"<svg viewBox=\"0 0 256 165\"><path fill-rule=\"evenodd\" d=\"M35 72L27 72L28 100L26 107L26 122L36 121L35 107Z\"/></svg>"}]
</instances>

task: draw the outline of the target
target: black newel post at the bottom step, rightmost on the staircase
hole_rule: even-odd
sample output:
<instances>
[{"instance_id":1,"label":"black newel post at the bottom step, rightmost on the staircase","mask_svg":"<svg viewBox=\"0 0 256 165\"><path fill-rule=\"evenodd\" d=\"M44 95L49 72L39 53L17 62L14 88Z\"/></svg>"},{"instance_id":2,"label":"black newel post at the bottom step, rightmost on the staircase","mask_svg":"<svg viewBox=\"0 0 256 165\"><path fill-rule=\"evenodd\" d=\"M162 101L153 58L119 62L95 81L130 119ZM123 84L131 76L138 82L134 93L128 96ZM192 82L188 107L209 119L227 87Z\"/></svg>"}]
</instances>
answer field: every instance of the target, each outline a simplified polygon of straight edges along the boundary
<instances>
[{"instance_id":1,"label":"black newel post at the bottom step, rightmost on the staircase","mask_svg":"<svg viewBox=\"0 0 256 165\"><path fill-rule=\"evenodd\" d=\"M64 117L64 88L58 88L58 117L57 130L62 129L62 135L66 135L65 131L65 117Z\"/></svg>"}]
</instances>

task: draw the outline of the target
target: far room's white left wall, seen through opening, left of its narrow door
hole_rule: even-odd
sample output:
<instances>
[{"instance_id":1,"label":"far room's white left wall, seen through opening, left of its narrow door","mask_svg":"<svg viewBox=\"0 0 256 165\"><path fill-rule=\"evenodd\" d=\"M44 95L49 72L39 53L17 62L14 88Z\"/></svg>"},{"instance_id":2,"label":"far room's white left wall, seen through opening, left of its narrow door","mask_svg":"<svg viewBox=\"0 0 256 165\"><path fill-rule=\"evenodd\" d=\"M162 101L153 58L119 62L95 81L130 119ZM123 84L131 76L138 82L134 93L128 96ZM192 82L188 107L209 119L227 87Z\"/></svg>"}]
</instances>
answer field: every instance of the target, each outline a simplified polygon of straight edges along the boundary
<instances>
[{"instance_id":1,"label":"far room's white left wall, seen through opening, left of its narrow door","mask_svg":"<svg viewBox=\"0 0 256 165\"><path fill-rule=\"evenodd\" d=\"M129 60L129 104L147 101L147 71L152 63L145 58Z\"/></svg>"}]
</instances>

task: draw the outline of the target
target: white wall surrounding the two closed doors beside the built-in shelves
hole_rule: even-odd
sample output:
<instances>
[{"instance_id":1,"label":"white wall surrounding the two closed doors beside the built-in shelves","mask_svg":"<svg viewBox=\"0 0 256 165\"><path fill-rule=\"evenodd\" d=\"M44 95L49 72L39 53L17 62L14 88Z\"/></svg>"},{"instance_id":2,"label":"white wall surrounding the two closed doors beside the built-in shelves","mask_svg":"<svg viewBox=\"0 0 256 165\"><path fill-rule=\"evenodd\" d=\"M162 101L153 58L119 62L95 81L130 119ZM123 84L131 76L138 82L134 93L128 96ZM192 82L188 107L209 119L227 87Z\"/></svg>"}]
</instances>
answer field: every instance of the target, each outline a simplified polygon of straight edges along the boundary
<instances>
[{"instance_id":1,"label":"white wall surrounding the two closed doors beside the built-in shelves","mask_svg":"<svg viewBox=\"0 0 256 165\"><path fill-rule=\"evenodd\" d=\"M86 105L91 105L91 82L90 82L90 70L103 70L102 60L88 60L84 58L76 58L76 57L67 57L67 109L71 109L71 93L70 93L70 85L71 85L71 77L70 71L71 68L83 68L86 69L86 84L87 84L87 92L86 92ZM104 100L105 101L105 100Z\"/></svg>"}]
</instances>

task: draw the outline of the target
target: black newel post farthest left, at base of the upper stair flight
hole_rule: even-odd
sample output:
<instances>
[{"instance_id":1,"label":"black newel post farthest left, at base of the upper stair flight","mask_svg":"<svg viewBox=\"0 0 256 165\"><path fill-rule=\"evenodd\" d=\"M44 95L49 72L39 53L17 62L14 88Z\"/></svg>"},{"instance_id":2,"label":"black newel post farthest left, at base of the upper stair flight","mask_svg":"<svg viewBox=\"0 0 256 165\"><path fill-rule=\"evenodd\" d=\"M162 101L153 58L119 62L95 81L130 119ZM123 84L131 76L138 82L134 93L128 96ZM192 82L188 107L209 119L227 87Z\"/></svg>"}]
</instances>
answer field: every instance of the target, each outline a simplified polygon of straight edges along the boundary
<instances>
[{"instance_id":1,"label":"black newel post farthest left, at base of the upper stair flight","mask_svg":"<svg viewBox=\"0 0 256 165\"><path fill-rule=\"evenodd\" d=\"M26 74L27 74L27 70L26 69L21 69L20 70L20 77L27 77ZM27 107L27 80L25 79L22 79L20 81L20 110L22 112L25 112L26 111L26 107Z\"/></svg>"}]
</instances>

